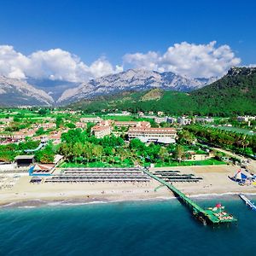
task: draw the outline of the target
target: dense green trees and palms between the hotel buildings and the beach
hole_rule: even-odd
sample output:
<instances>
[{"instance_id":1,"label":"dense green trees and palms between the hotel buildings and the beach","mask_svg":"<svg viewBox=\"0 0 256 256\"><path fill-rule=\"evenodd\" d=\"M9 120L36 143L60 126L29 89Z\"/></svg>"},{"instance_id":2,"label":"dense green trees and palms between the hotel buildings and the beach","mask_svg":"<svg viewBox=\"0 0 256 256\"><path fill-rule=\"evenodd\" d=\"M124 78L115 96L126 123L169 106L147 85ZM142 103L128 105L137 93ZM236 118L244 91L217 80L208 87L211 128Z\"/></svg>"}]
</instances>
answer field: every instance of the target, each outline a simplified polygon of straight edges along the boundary
<instances>
[{"instance_id":1,"label":"dense green trees and palms between the hotel buildings and the beach","mask_svg":"<svg viewBox=\"0 0 256 256\"><path fill-rule=\"evenodd\" d=\"M151 163L175 166L177 163L182 165L183 160L189 158L186 151L191 148L195 149L196 153L206 154L198 146L186 143L185 140L190 142L190 137L193 137L192 133L184 131L180 134L177 145L161 146L154 143L146 145L136 138L130 143L125 143L121 137L110 136L98 139L90 136L89 131L74 129L62 134L58 153L63 154L67 160L61 166L149 166ZM219 161L212 160L208 163L217 162Z\"/></svg>"}]
</instances>

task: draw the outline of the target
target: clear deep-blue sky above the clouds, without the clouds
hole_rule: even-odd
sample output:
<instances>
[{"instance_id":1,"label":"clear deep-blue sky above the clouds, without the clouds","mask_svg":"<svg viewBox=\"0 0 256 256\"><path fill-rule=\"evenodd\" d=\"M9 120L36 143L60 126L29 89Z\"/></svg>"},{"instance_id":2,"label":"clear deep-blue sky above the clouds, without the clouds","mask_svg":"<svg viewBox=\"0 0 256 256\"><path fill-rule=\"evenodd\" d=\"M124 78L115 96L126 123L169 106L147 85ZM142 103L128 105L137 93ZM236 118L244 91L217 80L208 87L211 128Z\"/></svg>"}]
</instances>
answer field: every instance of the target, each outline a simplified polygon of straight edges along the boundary
<instances>
[{"instance_id":1,"label":"clear deep-blue sky above the clouds, without the clouds","mask_svg":"<svg viewBox=\"0 0 256 256\"><path fill-rule=\"evenodd\" d=\"M256 63L255 1L1 0L0 4L0 45L26 56L62 49L88 67L105 58L114 71L115 65L124 66L127 54L154 51L161 56L174 44L217 41L214 48L229 45L240 65ZM124 67L145 66L134 57L126 62ZM162 60L154 64L160 71L169 68ZM180 68L169 69L183 73Z\"/></svg>"}]
</instances>

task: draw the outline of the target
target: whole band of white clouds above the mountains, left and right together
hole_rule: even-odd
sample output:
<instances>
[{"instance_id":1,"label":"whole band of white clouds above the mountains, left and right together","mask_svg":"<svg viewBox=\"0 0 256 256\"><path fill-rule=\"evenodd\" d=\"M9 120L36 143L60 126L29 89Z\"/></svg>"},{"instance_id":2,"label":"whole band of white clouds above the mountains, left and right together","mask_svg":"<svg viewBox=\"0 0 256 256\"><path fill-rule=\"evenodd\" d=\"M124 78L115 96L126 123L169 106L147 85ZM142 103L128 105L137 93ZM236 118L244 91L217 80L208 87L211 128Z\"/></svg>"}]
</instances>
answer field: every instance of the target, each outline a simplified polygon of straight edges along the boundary
<instances>
[{"instance_id":1,"label":"whole band of white clouds above the mountains, left and right together","mask_svg":"<svg viewBox=\"0 0 256 256\"><path fill-rule=\"evenodd\" d=\"M174 44L163 54L155 51L126 54L123 61L125 66L171 71L192 78L221 76L241 62L229 45L217 46L215 41L209 44ZM38 50L31 55L23 55L13 46L0 45L0 75L9 78L83 82L122 71L122 66L113 66L105 57L89 65L62 49Z\"/></svg>"}]
</instances>

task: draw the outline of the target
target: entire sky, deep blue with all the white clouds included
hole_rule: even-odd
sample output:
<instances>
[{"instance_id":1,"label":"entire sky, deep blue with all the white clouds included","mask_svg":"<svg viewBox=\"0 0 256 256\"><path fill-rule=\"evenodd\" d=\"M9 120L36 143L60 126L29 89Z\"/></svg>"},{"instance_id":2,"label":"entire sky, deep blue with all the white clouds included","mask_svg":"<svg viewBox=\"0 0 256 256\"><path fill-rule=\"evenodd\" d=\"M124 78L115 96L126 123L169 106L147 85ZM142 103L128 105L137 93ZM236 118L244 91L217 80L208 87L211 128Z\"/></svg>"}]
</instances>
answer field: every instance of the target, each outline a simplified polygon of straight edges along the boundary
<instances>
[{"instance_id":1,"label":"entire sky, deep blue with all the white clouds included","mask_svg":"<svg viewBox=\"0 0 256 256\"><path fill-rule=\"evenodd\" d=\"M0 0L0 75L81 82L128 68L190 78L256 63L256 1Z\"/></svg>"}]
</instances>

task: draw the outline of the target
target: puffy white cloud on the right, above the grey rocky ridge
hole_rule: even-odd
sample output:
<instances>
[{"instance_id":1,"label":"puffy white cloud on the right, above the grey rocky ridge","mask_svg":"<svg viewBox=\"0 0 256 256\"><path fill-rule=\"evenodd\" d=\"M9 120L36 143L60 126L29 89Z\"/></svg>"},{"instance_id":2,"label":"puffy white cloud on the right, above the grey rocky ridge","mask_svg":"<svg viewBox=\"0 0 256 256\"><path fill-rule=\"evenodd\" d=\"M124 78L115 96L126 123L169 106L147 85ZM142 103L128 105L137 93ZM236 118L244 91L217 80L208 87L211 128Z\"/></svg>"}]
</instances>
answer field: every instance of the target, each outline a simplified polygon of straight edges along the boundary
<instances>
[{"instance_id":1,"label":"puffy white cloud on the right, above the grey rocky ridge","mask_svg":"<svg viewBox=\"0 0 256 256\"><path fill-rule=\"evenodd\" d=\"M131 67L171 71L190 78L221 76L241 62L229 45L217 47L216 41L209 44L183 42L169 47L164 54L149 51L146 54L126 54L123 59Z\"/></svg>"}]
</instances>

